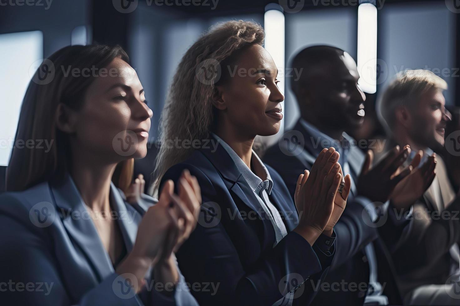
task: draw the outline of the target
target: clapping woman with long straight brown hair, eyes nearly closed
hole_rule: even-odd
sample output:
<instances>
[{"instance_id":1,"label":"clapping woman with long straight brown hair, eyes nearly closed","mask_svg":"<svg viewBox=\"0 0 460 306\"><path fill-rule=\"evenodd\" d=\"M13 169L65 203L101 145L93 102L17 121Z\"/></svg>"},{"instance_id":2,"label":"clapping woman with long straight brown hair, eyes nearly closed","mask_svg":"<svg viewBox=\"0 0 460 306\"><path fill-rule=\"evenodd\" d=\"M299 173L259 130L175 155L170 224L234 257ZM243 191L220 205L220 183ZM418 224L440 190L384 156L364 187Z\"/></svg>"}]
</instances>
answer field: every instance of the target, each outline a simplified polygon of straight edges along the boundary
<instances>
[{"instance_id":1,"label":"clapping woman with long straight brown hair, eyes nearly closed","mask_svg":"<svg viewBox=\"0 0 460 306\"><path fill-rule=\"evenodd\" d=\"M111 183L142 158L152 111L120 47L68 46L44 60L23 100L0 196L1 303L196 305L173 250L195 227L196 178L130 205ZM153 269L153 270L152 270Z\"/></svg>"}]
</instances>

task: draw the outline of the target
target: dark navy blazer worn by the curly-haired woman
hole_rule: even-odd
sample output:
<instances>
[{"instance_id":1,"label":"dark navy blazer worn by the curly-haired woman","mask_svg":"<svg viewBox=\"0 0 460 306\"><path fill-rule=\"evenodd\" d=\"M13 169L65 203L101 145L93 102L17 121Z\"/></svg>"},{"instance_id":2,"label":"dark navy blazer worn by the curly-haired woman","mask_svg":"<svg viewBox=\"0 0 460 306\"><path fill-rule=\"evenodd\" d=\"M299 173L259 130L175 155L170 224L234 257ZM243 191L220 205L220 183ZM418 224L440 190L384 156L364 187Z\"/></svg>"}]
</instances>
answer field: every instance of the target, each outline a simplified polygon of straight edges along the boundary
<instances>
[{"instance_id":1,"label":"dark navy blazer worn by the curly-haired woman","mask_svg":"<svg viewBox=\"0 0 460 306\"><path fill-rule=\"evenodd\" d=\"M176 256L189 283L219 286L214 292L192 290L202 306L271 306L278 300L286 302L286 295L295 297L294 305L308 305L314 292L302 284L307 279L317 283L328 271L333 249L323 253L293 232L299 223L293 200L278 173L267 168L273 180L270 202L280 211L288 231L275 247L270 220L220 144L195 150L161 180L161 184L167 179L177 182L182 171L189 169L201 187L198 225Z\"/></svg>"}]
</instances>

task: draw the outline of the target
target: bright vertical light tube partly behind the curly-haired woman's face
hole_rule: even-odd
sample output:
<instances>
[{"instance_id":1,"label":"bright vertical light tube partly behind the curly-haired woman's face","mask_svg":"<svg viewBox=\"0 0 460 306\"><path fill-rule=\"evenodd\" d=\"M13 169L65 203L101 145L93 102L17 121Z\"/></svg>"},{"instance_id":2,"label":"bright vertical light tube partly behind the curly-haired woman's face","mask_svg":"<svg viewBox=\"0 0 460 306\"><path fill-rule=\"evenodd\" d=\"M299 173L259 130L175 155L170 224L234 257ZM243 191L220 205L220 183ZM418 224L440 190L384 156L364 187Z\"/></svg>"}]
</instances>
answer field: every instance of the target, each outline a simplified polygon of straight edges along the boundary
<instances>
[{"instance_id":1,"label":"bright vertical light tube partly behind the curly-haired woman's face","mask_svg":"<svg viewBox=\"0 0 460 306\"><path fill-rule=\"evenodd\" d=\"M269 10L265 12L264 16L265 28L265 49L270 53L273 61L275 61L278 68L278 76L276 77L280 83L278 87L284 94L284 14L278 10ZM284 115L284 103L282 103ZM284 131L284 118L281 121L280 132ZM276 138L273 138L276 140ZM273 143L268 139L269 143Z\"/></svg>"}]
</instances>

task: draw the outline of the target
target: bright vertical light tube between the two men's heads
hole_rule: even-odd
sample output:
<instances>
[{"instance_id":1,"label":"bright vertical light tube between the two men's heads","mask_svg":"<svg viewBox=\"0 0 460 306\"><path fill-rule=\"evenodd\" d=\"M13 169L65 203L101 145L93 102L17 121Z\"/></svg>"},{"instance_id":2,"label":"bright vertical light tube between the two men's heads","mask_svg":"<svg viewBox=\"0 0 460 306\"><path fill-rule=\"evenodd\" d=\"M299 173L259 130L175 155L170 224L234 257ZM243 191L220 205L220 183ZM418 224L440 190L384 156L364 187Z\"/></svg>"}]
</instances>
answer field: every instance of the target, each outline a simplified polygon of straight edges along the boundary
<instances>
[{"instance_id":1,"label":"bright vertical light tube between the two men's heads","mask_svg":"<svg viewBox=\"0 0 460 306\"><path fill-rule=\"evenodd\" d=\"M377 7L363 3L358 7L358 72L364 92L377 91Z\"/></svg>"}]
</instances>

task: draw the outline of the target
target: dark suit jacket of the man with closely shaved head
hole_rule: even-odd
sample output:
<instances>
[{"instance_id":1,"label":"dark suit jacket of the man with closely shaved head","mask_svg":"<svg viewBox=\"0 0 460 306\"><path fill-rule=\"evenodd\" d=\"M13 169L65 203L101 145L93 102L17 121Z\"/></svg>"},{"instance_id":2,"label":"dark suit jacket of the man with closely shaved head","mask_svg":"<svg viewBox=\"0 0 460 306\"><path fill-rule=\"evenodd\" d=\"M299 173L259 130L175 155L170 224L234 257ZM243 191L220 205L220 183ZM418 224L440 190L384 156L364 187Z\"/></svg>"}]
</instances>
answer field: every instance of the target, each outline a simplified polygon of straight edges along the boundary
<instances>
[{"instance_id":1,"label":"dark suit jacket of the man with closely shaved head","mask_svg":"<svg viewBox=\"0 0 460 306\"><path fill-rule=\"evenodd\" d=\"M310 141L310 135L300 122L296 123L292 131L302 133L305 143ZM281 139L278 144L273 145L265 152L263 160L279 172L288 186L290 194L293 196L299 173L302 173L305 169L311 170L311 166L316 160L316 155L311 153L306 146L296 151L296 153L299 153L296 156L286 155L283 152L292 151L296 145L292 140L286 139L284 141L284 139ZM297 141L297 139L294 140ZM348 153L348 162L351 168L350 175L354 182L357 182L357 177L364 162L364 155L360 149L351 148ZM355 200L355 196L353 194L349 195L345 211L334 227L337 233L336 253L324 282L330 284L334 282L367 284L369 281L369 264L363 249L367 244L373 243L377 262L379 263L378 281L382 286L385 284L384 294L388 297L391 305L402 304L401 295L394 278L391 257L383 243L383 241L388 241L389 244L393 244L399 240L398 236L401 236L401 229L393 228L391 222L385 222L379 228L369 226L368 224L371 224L372 221L367 212L363 213L364 206ZM383 234L383 237L380 237L379 234ZM362 305L364 298L365 292L362 290L340 289L339 291L333 291L329 289L323 291L320 289L312 305L356 306Z\"/></svg>"}]
</instances>

